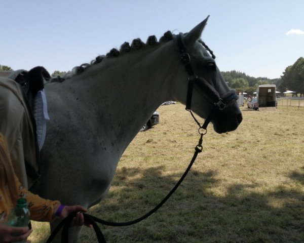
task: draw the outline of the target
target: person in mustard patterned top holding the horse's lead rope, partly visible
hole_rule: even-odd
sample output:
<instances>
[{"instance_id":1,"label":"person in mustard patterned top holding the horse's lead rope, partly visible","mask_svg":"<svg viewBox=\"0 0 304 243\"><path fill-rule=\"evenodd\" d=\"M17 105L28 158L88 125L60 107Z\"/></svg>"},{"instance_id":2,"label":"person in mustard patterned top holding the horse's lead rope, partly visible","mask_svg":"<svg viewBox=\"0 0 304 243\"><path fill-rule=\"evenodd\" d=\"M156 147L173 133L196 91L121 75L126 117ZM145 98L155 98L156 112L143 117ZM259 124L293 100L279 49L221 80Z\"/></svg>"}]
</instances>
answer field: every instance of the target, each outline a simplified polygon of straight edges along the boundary
<instances>
[{"instance_id":1,"label":"person in mustard patterned top holding the horse's lead rope, partly visible","mask_svg":"<svg viewBox=\"0 0 304 243\"><path fill-rule=\"evenodd\" d=\"M18 198L26 198L31 220L52 222L55 217L64 219L72 213L77 213L71 226L84 225L81 212L87 212L82 206L64 206L59 201L41 198L22 187L16 176L6 139L0 133L0 243L21 241L27 239L32 232L28 227L7 226L8 214L15 207ZM92 225L88 225L92 227ZM16 236L17 235L17 236ZM27 241L28 242L28 241Z\"/></svg>"}]
</instances>

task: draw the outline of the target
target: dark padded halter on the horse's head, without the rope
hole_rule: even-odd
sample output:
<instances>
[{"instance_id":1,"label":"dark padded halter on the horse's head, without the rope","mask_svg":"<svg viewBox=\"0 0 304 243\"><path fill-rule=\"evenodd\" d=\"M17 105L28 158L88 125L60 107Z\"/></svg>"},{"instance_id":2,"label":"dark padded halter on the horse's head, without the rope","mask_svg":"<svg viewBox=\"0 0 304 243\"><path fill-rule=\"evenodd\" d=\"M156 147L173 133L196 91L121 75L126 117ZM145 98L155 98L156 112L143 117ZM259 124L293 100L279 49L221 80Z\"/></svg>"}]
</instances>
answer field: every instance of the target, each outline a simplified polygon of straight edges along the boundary
<instances>
[{"instance_id":1,"label":"dark padded halter on the horse's head, without the rope","mask_svg":"<svg viewBox=\"0 0 304 243\"><path fill-rule=\"evenodd\" d=\"M229 92L227 92L226 94L224 94L221 97L219 95L219 93L203 77L198 77L194 73L192 66L191 66L190 55L187 52L186 48L184 47L184 45L181 41L181 34L182 33L179 33L178 35L175 35L175 37L176 37L179 52L180 52L180 59L188 73L188 90L187 90L187 100L186 100L185 109L187 111L191 112L191 115L193 116L196 123L199 125L200 129L204 129L207 132L207 126L210 123L215 112L218 112L219 110L224 109L233 100L237 100L238 96L235 93L235 90L230 90ZM212 55L212 57L214 59L213 55ZM193 93L194 85L196 85L198 88L200 88L212 100L213 105L214 105L214 108L212 109L212 111L210 112L208 117L205 119L203 126L201 126L201 124L198 122L198 120L194 117L192 110L191 110L192 93Z\"/></svg>"}]
</instances>

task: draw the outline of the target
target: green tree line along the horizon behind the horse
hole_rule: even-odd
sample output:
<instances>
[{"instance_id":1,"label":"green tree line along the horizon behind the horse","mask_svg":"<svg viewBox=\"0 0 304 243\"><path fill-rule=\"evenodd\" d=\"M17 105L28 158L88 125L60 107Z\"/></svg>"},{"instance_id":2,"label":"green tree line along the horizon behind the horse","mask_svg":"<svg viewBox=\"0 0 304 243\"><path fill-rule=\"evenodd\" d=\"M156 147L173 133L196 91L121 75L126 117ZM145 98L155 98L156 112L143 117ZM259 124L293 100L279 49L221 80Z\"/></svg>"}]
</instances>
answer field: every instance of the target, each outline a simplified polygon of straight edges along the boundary
<instances>
[{"instance_id":1,"label":"green tree line along the horizon behind the horse","mask_svg":"<svg viewBox=\"0 0 304 243\"><path fill-rule=\"evenodd\" d=\"M0 70L13 70L9 66L0 65ZM54 71L51 76L63 76L66 72ZM296 62L286 67L283 75L280 78L267 78L267 77L252 77L246 75L244 72L232 70L221 72L226 84L236 89L237 92L245 92L253 94L259 85L276 85L277 90L285 92L286 90L295 91L301 96L304 95L304 58L300 57Z\"/></svg>"}]
</instances>

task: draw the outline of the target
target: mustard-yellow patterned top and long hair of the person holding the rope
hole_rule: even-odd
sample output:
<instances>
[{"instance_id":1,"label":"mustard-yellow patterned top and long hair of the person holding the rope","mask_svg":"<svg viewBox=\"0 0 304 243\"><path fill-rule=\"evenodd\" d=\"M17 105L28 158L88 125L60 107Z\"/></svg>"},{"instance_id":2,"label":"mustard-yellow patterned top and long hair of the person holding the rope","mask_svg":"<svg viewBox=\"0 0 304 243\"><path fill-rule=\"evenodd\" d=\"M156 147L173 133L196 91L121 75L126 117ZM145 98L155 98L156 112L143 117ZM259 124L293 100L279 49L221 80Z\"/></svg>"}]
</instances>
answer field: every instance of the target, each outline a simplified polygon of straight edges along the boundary
<instances>
[{"instance_id":1,"label":"mustard-yellow patterned top and long hair of the person holding the rope","mask_svg":"<svg viewBox=\"0 0 304 243\"><path fill-rule=\"evenodd\" d=\"M54 220L60 202L41 198L21 186L13 169L7 142L0 133L0 223L6 222L20 197L27 199L31 220Z\"/></svg>"}]
</instances>

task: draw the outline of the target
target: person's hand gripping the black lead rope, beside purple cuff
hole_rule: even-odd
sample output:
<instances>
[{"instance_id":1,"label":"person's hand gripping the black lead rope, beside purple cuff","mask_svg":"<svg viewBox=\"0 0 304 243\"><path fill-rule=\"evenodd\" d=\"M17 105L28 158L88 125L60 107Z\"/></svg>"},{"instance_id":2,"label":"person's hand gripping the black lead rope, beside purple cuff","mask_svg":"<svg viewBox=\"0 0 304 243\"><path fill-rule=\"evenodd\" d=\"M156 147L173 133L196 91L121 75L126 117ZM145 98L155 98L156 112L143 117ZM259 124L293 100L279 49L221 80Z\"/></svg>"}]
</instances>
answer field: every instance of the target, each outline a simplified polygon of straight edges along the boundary
<instances>
[{"instance_id":1,"label":"person's hand gripping the black lead rope, beside purple cuff","mask_svg":"<svg viewBox=\"0 0 304 243\"><path fill-rule=\"evenodd\" d=\"M82 213L86 213L88 212L88 210L82 206L65 206L62 209L62 212L60 214L60 218L64 219L66 218L68 215L72 214L72 213L77 213L75 217L73 217L70 226L83 226L86 225L90 228L93 228L93 225L88 224L85 222L84 220L84 215Z\"/></svg>"}]
</instances>

